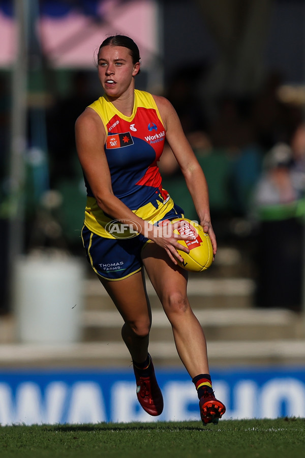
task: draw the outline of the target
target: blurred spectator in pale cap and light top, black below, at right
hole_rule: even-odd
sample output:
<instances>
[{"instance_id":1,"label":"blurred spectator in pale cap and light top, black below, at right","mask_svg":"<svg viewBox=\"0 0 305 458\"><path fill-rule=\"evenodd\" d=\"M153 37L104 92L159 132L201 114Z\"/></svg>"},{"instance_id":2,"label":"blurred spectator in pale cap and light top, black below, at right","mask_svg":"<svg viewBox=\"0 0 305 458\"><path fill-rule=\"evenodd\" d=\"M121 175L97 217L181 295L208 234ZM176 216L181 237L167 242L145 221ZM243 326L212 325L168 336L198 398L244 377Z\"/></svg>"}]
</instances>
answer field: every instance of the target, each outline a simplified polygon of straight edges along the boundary
<instances>
[{"instance_id":1,"label":"blurred spectator in pale cap and light top, black below, at right","mask_svg":"<svg viewBox=\"0 0 305 458\"><path fill-rule=\"evenodd\" d=\"M293 140L291 142L293 145ZM257 305L301 309L303 186L293 151L277 144L266 155L254 192L259 220Z\"/></svg>"}]
</instances>

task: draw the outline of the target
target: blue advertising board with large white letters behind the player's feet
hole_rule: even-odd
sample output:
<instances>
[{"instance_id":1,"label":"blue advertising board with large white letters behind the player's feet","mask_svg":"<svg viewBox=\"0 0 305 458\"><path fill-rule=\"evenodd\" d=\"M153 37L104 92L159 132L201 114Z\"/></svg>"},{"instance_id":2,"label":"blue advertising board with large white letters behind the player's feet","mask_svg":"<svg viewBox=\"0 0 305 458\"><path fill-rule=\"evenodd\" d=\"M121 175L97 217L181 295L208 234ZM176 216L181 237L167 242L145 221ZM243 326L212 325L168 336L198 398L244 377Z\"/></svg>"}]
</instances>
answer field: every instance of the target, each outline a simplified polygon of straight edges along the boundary
<instances>
[{"instance_id":1,"label":"blue advertising board with large white letters behind the player's feet","mask_svg":"<svg viewBox=\"0 0 305 458\"><path fill-rule=\"evenodd\" d=\"M64 424L199 420L189 375L156 368L164 411L138 404L128 370L0 370L0 424ZM305 417L305 367L211 370L224 419Z\"/></svg>"}]
</instances>

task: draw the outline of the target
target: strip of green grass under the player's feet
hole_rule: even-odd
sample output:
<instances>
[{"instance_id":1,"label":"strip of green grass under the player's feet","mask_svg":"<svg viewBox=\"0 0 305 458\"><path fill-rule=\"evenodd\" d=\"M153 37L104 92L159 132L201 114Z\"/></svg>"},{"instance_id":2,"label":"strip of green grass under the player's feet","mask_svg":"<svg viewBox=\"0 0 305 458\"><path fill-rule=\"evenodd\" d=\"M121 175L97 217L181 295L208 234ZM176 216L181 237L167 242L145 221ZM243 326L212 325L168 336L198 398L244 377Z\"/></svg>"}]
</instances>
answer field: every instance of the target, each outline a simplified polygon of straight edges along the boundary
<instances>
[{"instance_id":1,"label":"strip of green grass under the player's feet","mask_svg":"<svg viewBox=\"0 0 305 458\"><path fill-rule=\"evenodd\" d=\"M305 420L221 420L0 427L2 458L303 456Z\"/></svg>"}]
</instances>

